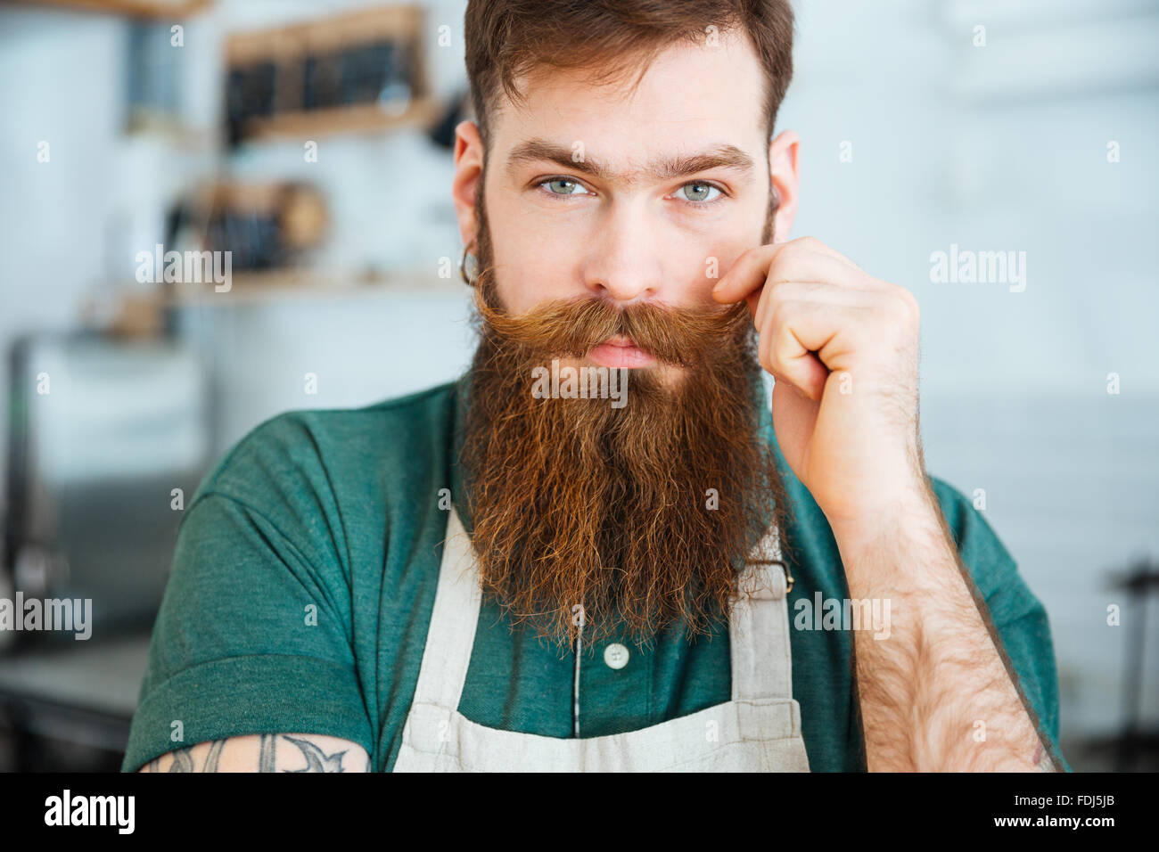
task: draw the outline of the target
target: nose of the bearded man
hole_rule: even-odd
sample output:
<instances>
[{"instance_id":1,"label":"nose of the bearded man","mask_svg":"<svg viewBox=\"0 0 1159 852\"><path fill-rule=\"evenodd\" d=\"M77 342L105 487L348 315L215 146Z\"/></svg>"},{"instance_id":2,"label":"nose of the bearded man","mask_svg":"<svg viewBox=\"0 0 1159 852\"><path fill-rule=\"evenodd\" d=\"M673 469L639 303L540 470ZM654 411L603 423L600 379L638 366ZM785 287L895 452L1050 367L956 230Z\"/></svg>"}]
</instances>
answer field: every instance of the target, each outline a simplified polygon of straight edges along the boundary
<instances>
[{"instance_id":1,"label":"nose of the bearded man","mask_svg":"<svg viewBox=\"0 0 1159 852\"><path fill-rule=\"evenodd\" d=\"M613 301L657 298L663 289L663 239L646 204L619 203L599 223L583 276L592 294Z\"/></svg>"}]
</instances>

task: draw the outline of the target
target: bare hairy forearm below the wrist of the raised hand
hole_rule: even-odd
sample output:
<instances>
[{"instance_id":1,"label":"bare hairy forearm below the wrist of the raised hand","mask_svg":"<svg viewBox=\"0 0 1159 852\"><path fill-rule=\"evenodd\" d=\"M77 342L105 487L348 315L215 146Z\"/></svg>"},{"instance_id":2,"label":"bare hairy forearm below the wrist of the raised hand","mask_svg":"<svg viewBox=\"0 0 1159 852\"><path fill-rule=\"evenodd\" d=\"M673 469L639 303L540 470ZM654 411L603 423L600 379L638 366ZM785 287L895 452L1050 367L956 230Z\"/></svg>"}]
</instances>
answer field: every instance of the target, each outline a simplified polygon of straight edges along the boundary
<instances>
[{"instance_id":1,"label":"bare hairy forearm below the wrist of the raised hand","mask_svg":"<svg viewBox=\"0 0 1159 852\"><path fill-rule=\"evenodd\" d=\"M854 631L869 771L1054 771L923 486L872 533L838 532L850 596L888 602Z\"/></svg>"}]
</instances>

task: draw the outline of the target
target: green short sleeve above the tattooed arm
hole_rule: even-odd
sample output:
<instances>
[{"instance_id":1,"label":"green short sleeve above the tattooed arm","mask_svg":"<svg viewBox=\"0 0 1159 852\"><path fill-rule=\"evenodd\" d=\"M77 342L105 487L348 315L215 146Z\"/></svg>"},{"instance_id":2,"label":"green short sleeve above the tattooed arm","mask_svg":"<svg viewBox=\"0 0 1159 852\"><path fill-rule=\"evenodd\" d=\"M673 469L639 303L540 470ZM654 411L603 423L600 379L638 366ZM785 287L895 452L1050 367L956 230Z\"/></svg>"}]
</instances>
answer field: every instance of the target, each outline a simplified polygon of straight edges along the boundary
<instances>
[{"instance_id":1,"label":"green short sleeve above the tattooed arm","mask_svg":"<svg viewBox=\"0 0 1159 852\"><path fill-rule=\"evenodd\" d=\"M373 755L341 515L306 424L268 421L185 509L122 770L246 734L327 734Z\"/></svg>"}]
</instances>

